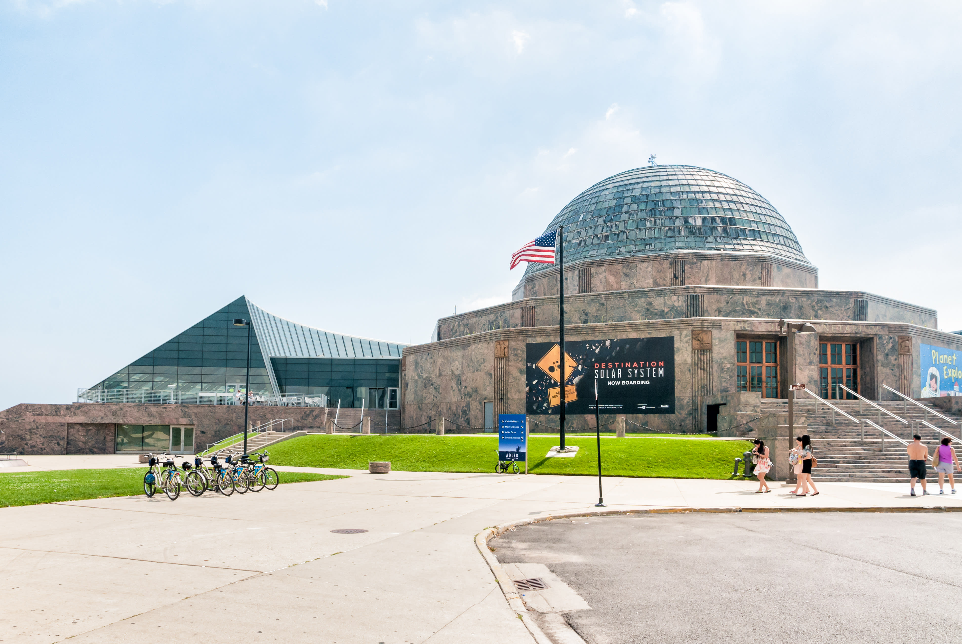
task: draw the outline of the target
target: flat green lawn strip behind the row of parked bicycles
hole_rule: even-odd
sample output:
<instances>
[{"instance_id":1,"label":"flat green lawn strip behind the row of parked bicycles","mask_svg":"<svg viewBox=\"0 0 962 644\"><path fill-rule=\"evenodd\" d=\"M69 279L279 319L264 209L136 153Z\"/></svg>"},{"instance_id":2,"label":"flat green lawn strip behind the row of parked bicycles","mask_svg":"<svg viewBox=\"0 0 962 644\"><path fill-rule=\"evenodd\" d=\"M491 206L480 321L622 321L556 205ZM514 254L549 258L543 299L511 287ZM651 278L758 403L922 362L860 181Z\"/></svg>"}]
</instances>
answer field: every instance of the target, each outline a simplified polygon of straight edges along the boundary
<instances>
[{"instance_id":1,"label":"flat green lawn strip behind the row of parked bicycles","mask_svg":"<svg viewBox=\"0 0 962 644\"><path fill-rule=\"evenodd\" d=\"M129 469L0 474L0 508L143 494L143 475L146 471L147 467L144 466ZM278 472L278 476L281 483L344 478L301 472ZM164 496L163 491L159 491L158 494ZM204 494L211 494L211 491L208 490ZM190 497L190 494L182 489L181 496Z\"/></svg>"}]
</instances>

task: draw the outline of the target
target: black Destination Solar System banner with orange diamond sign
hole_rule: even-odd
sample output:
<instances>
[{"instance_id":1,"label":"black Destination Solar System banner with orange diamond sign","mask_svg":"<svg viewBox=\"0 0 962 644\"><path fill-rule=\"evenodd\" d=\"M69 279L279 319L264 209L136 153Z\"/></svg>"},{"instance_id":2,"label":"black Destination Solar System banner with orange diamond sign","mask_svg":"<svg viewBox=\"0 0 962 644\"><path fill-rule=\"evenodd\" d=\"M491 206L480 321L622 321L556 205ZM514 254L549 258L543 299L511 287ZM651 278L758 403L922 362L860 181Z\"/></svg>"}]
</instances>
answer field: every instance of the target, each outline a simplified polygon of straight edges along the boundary
<instances>
[{"instance_id":1,"label":"black Destination Solar System banner with orange diamond sign","mask_svg":"<svg viewBox=\"0 0 962 644\"><path fill-rule=\"evenodd\" d=\"M567 413L674 413L674 336L565 342ZM526 405L531 415L561 410L561 347L526 345Z\"/></svg>"}]
</instances>

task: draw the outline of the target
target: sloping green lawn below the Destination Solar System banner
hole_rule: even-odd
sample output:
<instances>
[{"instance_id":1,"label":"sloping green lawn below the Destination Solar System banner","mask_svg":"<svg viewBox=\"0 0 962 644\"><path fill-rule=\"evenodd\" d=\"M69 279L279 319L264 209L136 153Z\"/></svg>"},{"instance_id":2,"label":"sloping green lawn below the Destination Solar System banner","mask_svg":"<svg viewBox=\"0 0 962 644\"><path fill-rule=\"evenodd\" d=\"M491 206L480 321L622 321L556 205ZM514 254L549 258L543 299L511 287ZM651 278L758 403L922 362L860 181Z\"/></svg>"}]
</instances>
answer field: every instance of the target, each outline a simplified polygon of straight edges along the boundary
<instances>
[{"instance_id":1,"label":"sloping green lawn below the Destination Solar System banner","mask_svg":"<svg viewBox=\"0 0 962 644\"><path fill-rule=\"evenodd\" d=\"M570 437L581 449L575 458L544 458L557 437L529 438L532 474L597 474L595 438ZM493 472L497 436L328 435L291 438L267 448L272 465L367 469L369 460L390 460L394 470L411 472ZM751 449L742 440L603 438L606 476L672 479L729 479L735 457Z\"/></svg>"}]
</instances>

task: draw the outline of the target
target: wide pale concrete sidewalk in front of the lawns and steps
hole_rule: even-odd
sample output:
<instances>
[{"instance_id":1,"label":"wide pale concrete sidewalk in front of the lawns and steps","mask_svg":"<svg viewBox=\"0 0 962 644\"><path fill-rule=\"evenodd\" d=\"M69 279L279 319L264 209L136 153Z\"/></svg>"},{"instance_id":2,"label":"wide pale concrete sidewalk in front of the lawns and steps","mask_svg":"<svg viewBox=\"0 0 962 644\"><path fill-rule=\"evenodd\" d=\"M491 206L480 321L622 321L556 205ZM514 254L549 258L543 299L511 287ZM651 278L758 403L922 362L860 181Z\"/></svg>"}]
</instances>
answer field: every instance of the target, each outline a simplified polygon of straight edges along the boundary
<instances>
[{"instance_id":1,"label":"wide pale concrete sidewalk in front of the lawns and steps","mask_svg":"<svg viewBox=\"0 0 962 644\"><path fill-rule=\"evenodd\" d=\"M279 469L351 478L0 508L0 637L531 642L473 537L597 501L590 477ZM780 487L753 494L751 482L604 484L607 509L962 507L962 495L909 497L907 483L823 483L803 499ZM331 533L353 528L368 532Z\"/></svg>"}]
</instances>

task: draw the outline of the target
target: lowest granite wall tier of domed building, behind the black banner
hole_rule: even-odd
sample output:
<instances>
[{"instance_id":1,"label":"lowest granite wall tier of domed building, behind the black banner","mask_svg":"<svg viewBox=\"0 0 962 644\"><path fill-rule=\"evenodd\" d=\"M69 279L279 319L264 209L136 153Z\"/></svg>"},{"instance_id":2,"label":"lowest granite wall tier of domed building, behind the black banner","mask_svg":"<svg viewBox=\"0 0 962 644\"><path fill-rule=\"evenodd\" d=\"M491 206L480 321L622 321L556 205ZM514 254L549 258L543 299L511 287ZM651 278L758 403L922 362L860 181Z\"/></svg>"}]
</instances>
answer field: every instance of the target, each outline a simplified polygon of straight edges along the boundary
<instances>
[{"instance_id":1,"label":"lowest granite wall tier of domed building, behind the black banner","mask_svg":"<svg viewBox=\"0 0 962 644\"><path fill-rule=\"evenodd\" d=\"M703 288L703 287L699 287ZM808 291L806 291L808 292ZM829 297L832 291L829 291ZM817 294L823 294L822 291ZM618 294L609 294L612 297ZM567 303L566 303L567 304ZM797 303L788 302L792 307ZM772 298L772 306L778 305ZM510 306L510 305L509 305ZM514 306L517 306L515 303ZM779 305L780 306L780 305ZM789 309L791 310L791 309ZM572 304L569 314L576 317ZM794 316L793 316L794 317ZM589 318L591 319L591 318ZM804 319L804 318L803 318ZM814 322L818 334L797 334L796 380L813 392L820 384L820 342L857 342L862 352L861 392L874 400L897 396L882 384L899 389L899 336L914 343L912 358L918 381L920 342L962 350L962 336L946 334L918 325L859 321ZM690 317L636 322L589 322L566 325L570 340L672 335L675 339L675 413L672 415L628 415L627 419L656 430L700 432L705 427L705 405L711 398L735 396L735 342L739 339L768 339L781 344L774 318ZM439 416L461 425L481 428L484 402L494 401L495 342L506 341L508 385L506 413L524 413L525 344L557 340L557 326L513 327L464 334L440 342L406 347L401 366L401 413L407 427ZM707 353L706 353L707 352ZM699 371L700 370L700 371ZM789 384L784 359L780 381ZM907 391L911 395L911 392ZM784 392L782 392L784 396ZM594 416L569 416L572 429L594 427ZM556 417L533 417L533 421L557 427ZM632 426L629 424L629 429Z\"/></svg>"}]
</instances>

